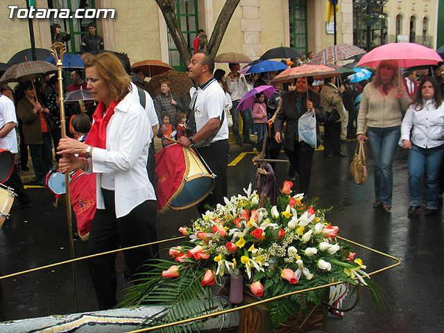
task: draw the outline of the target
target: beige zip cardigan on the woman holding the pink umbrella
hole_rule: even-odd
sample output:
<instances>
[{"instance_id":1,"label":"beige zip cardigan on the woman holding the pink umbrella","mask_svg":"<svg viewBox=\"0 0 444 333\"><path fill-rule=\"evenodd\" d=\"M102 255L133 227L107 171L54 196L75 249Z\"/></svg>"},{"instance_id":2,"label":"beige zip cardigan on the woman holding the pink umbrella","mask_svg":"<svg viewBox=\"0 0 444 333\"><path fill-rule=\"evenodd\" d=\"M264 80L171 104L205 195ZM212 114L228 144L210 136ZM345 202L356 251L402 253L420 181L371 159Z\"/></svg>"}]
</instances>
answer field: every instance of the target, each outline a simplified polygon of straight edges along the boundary
<instances>
[{"instance_id":1,"label":"beige zip cardigan on the woman holding the pink umbrella","mask_svg":"<svg viewBox=\"0 0 444 333\"><path fill-rule=\"evenodd\" d=\"M377 128L400 126L402 113L407 110L411 103L409 94L405 91L404 96L398 99L397 87L393 87L387 96L382 96L379 90L369 83L362 93L361 105L357 119L357 134L364 134L364 124Z\"/></svg>"}]
</instances>

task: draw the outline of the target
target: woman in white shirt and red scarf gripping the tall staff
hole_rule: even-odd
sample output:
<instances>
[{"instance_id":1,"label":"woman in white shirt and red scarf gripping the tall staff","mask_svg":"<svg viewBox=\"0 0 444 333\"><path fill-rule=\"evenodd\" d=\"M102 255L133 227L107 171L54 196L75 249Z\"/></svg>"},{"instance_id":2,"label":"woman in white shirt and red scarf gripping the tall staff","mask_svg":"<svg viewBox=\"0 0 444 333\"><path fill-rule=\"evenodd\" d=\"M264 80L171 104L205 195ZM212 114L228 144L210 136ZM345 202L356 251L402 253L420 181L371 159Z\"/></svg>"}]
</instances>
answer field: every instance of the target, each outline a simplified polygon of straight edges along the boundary
<instances>
[{"instance_id":1,"label":"woman in white shirt and red scarf gripping the tall staff","mask_svg":"<svg viewBox=\"0 0 444 333\"><path fill-rule=\"evenodd\" d=\"M151 143L146 112L131 96L130 76L116 56L86 53L83 59L87 89L99 105L85 143L62 138L58 154L63 156L59 162L62 173L76 169L96 173L97 210L89 232L88 254L157 241L156 199L146 172ZM130 273L143 272L142 264L155 258L157 252L157 246L125 251ZM100 309L117 304L115 259L116 253L88 259Z\"/></svg>"}]
</instances>

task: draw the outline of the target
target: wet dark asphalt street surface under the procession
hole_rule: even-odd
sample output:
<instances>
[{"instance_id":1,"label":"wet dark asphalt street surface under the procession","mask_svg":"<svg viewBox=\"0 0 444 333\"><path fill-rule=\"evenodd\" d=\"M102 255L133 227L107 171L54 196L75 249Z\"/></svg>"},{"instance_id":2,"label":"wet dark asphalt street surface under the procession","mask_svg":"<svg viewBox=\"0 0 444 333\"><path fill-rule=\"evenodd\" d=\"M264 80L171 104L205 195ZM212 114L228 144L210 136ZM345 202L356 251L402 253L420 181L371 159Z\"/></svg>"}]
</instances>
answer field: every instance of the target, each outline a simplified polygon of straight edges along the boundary
<instances>
[{"instance_id":1,"label":"wet dark asphalt street surface under the procession","mask_svg":"<svg viewBox=\"0 0 444 333\"><path fill-rule=\"evenodd\" d=\"M355 142L342 144L348 157L325 159L314 153L310 196L318 196L318 207L334 206L327 220L339 226L339 235L401 259L402 264L373 275L383 291L385 307L377 309L370 293L364 289L359 305L345 313L341 320L330 319L327 332L442 332L444 321L443 212L407 218L409 190L407 185L407 152L398 148L394 163L393 208L382 212L372 207L373 173L366 185L355 185L348 167ZM230 196L254 182L250 146L232 149L230 162L246 153L236 165L228 167ZM367 155L370 151L367 149ZM280 158L284 158L281 153ZM287 176L289 164L278 164L278 185ZM368 168L373 162L368 160ZM0 230L0 273L6 275L60 262L70 258L66 209L53 207L48 191L31 188L34 207L14 211ZM159 239L179 236L178 227L196 218L197 210L169 210L157 216ZM76 239L76 257L85 255L86 244ZM165 244L165 247L171 246ZM353 246L368 272L394 261ZM119 288L123 288L123 260L118 256ZM92 282L86 263L76 265L80 311L97 309ZM70 265L49 268L15 278L1 280L0 321L76 312ZM379 296L381 297L381 296ZM352 303L355 296L348 302ZM254 333L254 332L252 332Z\"/></svg>"}]
</instances>

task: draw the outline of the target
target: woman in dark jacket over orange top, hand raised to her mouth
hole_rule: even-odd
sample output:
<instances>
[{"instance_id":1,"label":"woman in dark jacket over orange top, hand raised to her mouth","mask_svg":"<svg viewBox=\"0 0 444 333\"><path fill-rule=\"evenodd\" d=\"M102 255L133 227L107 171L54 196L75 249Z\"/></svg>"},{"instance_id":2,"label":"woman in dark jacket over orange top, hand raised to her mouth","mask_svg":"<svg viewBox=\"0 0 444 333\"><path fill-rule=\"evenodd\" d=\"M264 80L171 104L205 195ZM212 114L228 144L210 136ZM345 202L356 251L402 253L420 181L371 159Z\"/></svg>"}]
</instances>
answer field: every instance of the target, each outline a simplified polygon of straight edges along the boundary
<instances>
[{"instance_id":1,"label":"woman in dark jacket over orange top, hand raised to her mouth","mask_svg":"<svg viewBox=\"0 0 444 333\"><path fill-rule=\"evenodd\" d=\"M31 81L22 84L24 98L17 103L17 115L23 122L25 144L29 146L37 184L44 186L46 173L53 167L51 133L46 115L47 108L37 101Z\"/></svg>"}]
</instances>

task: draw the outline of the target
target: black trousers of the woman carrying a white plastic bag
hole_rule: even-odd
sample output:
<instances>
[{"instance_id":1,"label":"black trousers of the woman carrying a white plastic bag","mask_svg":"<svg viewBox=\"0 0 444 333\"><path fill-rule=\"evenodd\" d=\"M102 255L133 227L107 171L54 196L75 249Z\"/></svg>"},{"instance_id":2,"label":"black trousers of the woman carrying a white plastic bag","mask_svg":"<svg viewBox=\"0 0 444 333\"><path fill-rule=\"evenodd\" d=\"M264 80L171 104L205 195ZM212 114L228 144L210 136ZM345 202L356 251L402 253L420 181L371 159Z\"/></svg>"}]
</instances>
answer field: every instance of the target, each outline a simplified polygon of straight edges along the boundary
<instances>
[{"instance_id":1,"label":"black trousers of the woman carrying a white plastic bag","mask_svg":"<svg viewBox=\"0 0 444 333\"><path fill-rule=\"evenodd\" d=\"M293 151L286 148L285 153L289 157L291 167L299 176L297 193L303 193L304 198L307 198L308 188L310 186L311 164L313 162L314 148L311 148L311 146L305 142L295 141Z\"/></svg>"}]
</instances>

